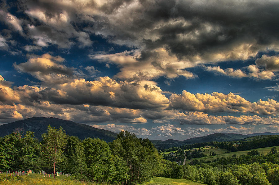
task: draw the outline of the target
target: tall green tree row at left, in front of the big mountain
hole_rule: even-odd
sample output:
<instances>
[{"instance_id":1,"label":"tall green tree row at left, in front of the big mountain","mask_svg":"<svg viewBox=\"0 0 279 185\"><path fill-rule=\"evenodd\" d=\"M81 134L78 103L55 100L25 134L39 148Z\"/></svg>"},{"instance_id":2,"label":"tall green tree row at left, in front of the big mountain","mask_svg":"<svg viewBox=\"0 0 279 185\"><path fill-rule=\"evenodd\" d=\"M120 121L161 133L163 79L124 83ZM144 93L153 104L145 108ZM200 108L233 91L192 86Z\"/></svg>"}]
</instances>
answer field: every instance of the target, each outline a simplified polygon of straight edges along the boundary
<instances>
[{"instance_id":1,"label":"tall green tree row at left, in front of the big mountain","mask_svg":"<svg viewBox=\"0 0 279 185\"><path fill-rule=\"evenodd\" d=\"M34 132L0 137L0 171L48 173L64 171L70 179L96 183L138 184L160 174L162 156L148 139L120 132L110 143L100 139L67 136L60 127L47 127L41 142ZM55 177L55 176L54 176Z\"/></svg>"}]
</instances>

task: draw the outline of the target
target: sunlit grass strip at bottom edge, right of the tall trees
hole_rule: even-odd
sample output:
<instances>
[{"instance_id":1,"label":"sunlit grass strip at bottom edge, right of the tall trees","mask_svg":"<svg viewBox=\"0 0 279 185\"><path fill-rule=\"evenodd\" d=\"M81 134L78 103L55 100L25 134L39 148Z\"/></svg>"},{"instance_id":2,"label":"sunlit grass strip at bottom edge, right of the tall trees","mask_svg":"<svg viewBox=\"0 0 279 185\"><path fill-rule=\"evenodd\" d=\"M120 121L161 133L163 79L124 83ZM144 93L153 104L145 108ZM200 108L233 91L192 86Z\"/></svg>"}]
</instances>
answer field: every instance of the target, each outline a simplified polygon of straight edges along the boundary
<instances>
[{"instance_id":1,"label":"sunlit grass strip at bottom edge, right of the tall trees","mask_svg":"<svg viewBox=\"0 0 279 185\"><path fill-rule=\"evenodd\" d=\"M191 180L185 179L169 179L164 177L153 177L149 183L145 183L144 185L205 185L201 183L196 183Z\"/></svg>"}]
</instances>

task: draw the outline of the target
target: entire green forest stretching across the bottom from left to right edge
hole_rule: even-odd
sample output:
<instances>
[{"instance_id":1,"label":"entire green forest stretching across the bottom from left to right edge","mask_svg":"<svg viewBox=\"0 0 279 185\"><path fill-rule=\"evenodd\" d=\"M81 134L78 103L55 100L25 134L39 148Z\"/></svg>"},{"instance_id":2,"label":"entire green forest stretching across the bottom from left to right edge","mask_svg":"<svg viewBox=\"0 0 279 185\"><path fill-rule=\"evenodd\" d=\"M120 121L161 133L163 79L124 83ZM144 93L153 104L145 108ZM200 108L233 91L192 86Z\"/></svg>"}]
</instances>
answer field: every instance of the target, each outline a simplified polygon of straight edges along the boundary
<instances>
[{"instance_id":1,"label":"entire green forest stretching across the bottom from left to right edge","mask_svg":"<svg viewBox=\"0 0 279 185\"><path fill-rule=\"evenodd\" d=\"M264 141L271 145L277 140L276 137L264 137ZM225 142L222 143L215 144L226 147ZM166 160L148 139L137 138L127 131L120 132L114 141L106 143L94 138L80 140L66 135L62 128L48 126L41 142L30 131L24 136L13 132L0 137L0 171L64 171L72 174L66 177L72 180L122 185L143 184L153 176L189 179L208 185L279 184L279 152L276 147L266 155L255 149L240 156L214 161L193 160L182 165L184 148L192 146L198 144L180 147L176 154L169 155L170 160ZM200 151L191 153L199 156Z\"/></svg>"}]
</instances>

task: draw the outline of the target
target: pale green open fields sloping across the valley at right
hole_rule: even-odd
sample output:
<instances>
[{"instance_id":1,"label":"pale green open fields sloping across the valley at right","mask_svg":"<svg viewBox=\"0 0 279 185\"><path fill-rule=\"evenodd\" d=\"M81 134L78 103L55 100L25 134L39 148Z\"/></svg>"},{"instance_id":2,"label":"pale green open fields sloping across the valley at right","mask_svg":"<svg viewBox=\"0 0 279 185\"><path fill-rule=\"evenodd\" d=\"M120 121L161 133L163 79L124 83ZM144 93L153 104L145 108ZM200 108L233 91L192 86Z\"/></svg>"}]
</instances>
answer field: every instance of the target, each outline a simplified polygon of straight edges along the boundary
<instances>
[{"instance_id":1,"label":"pale green open fields sloping across the valley at right","mask_svg":"<svg viewBox=\"0 0 279 185\"><path fill-rule=\"evenodd\" d=\"M274 146L272 146L272 147L274 147ZM260 154L262 154L262 153L263 154L267 154L272 147L257 148L257 149L251 149L251 150L245 150L245 151L239 151L239 152L230 152L230 153L225 153L228 150L220 149L218 147L216 149L211 149L211 148L202 149L202 151L205 150L205 152L203 152L204 154L206 154L206 153L209 154L209 152L212 153L212 151L214 151L215 153L217 153L217 155L215 155L215 156L206 156L206 157L202 157L202 158L192 158L191 160L187 160L186 164L191 162L191 161L193 161L193 160L195 160L195 159L197 159L197 160L201 160L202 159L202 160L206 160L206 161L208 161L208 160L213 161L216 158L231 157L233 154L236 154L237 156L240 156L242 154L247 154L247 152L250 152L252 150L258 150ZM276 147L279 147L279 146L276 146ZM220 153L220 154L218 154L218 153ZM206 155L208 155L208 154L206 154Z\"/></svg>"}]
</instances>

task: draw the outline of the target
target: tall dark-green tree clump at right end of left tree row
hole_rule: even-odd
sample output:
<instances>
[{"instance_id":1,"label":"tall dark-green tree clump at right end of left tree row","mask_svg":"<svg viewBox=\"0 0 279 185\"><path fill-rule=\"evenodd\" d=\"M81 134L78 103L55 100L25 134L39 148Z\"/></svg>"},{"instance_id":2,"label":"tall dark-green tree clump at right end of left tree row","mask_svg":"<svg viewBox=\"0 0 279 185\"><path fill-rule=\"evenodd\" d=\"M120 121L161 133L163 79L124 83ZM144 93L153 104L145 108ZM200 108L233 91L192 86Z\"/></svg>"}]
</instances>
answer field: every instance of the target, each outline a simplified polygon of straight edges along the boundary
<instances>
[{"instance_id":1,"label":"tall dark-green tree clump at right end of left tree row","mask_svg":"<svg viewBox=\"0 0 279 185\"><path fill-rule=\"evenodd\" d=\"M120 132L110 144L112 154L129 168L129 184L144 183L162 173L162 156L148 139L140 139L128 131Z\"/></svg>"}]
</instances>

